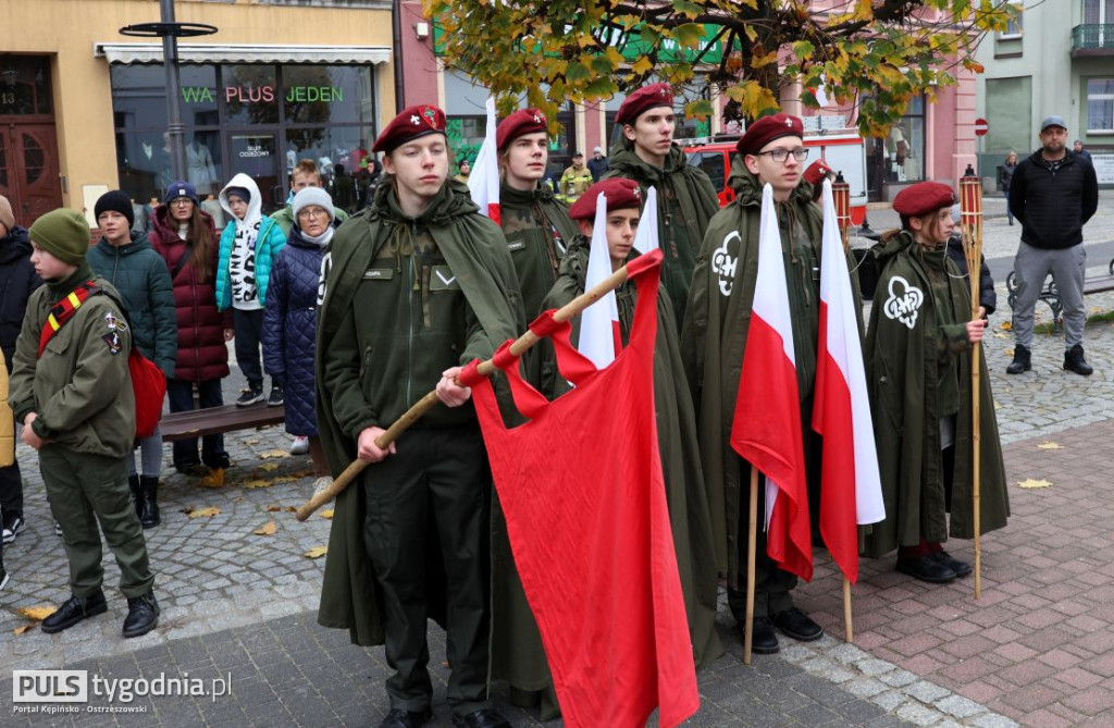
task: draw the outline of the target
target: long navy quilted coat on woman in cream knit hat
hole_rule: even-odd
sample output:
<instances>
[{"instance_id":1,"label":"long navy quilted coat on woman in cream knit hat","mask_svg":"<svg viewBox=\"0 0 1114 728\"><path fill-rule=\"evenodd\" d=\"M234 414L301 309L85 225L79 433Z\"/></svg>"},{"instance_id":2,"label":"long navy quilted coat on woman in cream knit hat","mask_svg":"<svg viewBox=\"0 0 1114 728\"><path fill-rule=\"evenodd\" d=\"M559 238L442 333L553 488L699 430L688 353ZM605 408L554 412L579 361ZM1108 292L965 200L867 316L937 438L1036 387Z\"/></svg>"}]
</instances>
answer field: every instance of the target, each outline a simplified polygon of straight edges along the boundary
<instances>
[{"instance_id":1,"label":"long navy quilted coat on woman in cream knit hat","mask_svg":"<svg viewBox=\"0 0 1114 728\"><path fill-rule=\"evenodd\" d=\"M263 363L286 397L286 431L317 434L313 340L317 333L317 281L324 249L302 237L296 226L271 269L263 316Z\"/></svg>"}]
</instances>

